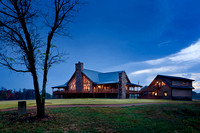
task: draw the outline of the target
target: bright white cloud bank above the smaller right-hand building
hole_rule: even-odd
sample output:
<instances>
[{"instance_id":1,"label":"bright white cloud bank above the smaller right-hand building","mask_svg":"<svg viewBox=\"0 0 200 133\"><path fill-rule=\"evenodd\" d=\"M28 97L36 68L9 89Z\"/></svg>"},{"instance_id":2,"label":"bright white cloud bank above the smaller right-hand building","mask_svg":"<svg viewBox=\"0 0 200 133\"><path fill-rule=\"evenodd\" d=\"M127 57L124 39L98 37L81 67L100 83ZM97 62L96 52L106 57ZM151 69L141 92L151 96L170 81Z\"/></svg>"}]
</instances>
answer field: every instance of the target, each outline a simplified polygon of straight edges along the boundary
<instances>
[{"instance_id":1,"label":"bright white cloud bank above the smaller right-hand building","mask_svg":"<svg viewBox=\"0 0 200 133\"><path fill-rule=\"evenodd\" d=\"M132 82L149 85L158 74L194 79L193 86L200 92L200 39L179 52L154 60L129 62L110 70L125 70Z\"/></svg>"}]
</instances>

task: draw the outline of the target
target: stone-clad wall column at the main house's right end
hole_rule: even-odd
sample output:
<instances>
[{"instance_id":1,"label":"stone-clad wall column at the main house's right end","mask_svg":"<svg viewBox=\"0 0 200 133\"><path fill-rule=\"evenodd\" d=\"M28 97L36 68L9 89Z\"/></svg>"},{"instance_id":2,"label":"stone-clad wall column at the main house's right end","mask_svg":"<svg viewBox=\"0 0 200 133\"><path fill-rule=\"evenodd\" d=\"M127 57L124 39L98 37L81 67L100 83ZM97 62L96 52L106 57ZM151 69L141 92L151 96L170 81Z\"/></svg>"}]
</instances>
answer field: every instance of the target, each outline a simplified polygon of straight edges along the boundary
<instances>
[{"instance_id":1,"label":"stone-clad wall column at the main house's right end","mask_svg":"<svg viewBox=\"0 0 200 133\"><path fill-rule=\"evenodd\" d=\"M126 73L122 72L119 74L119 93L118 98L125 99L126 98Z\"/></svg>"}]
</instances>

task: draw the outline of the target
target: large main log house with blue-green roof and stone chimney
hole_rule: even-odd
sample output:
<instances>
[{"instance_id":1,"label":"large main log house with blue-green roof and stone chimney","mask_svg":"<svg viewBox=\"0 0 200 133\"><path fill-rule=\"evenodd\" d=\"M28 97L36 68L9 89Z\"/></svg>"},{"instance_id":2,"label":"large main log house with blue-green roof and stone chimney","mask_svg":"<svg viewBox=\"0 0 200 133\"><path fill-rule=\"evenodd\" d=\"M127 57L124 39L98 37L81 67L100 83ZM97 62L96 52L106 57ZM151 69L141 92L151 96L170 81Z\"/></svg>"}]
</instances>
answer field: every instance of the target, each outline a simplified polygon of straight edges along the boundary
<instances>
[{"instance_id":1,"label":"large main log house with blue-green roof and stone chimney","mask_svg":"<svg viewBox=\"0 0 200 133\"><path fill-rule=\"evenodd\" d=\"M83 63L75 65L72 77L63 85L54 86L56 98L135 98L140 85L130 82L125 71L101 73L84 69Z\"/></svg>"}]
</instances>

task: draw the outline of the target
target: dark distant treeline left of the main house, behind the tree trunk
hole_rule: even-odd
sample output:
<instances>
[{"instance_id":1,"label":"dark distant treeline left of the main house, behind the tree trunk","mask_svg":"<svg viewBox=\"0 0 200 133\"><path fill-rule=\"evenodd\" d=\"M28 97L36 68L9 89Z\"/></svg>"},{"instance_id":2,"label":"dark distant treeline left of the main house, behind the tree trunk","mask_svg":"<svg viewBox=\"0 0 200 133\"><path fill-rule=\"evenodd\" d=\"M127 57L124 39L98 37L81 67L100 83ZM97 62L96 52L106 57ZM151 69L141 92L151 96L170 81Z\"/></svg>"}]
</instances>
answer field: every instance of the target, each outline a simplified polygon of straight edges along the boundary
<instances>
[{"instance_id":1,"label":"dark distant treeline left of the main house, behind the tree trunk","mask_svg":"<svg viewBox=\"0 0 200 133\"><path fill-rule=\"evenodd\" d=\"M46 93L46 99L51 99L52 95ZM35 99L35 91L33 89L6 89L1 87L0 89L0 100L25 100L25 99Z\"/></svg>"}]
</instances>

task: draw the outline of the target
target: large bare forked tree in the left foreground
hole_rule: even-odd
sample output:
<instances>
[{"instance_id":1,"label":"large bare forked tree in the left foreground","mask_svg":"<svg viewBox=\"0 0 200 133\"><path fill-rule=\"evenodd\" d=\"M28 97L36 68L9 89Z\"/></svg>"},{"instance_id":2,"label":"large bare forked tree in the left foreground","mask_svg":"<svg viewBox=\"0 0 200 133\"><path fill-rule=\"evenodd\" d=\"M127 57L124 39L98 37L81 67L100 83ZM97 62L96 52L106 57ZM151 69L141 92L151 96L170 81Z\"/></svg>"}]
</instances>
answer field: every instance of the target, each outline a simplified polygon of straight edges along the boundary
<instances>
[{"instance_id":1,"label":"large bare forked tree in the left foreground","mask_svg":"<svg viewBox=\"0 0 200 133\"><path fill-rule=\"evenodd\" d=\"M31 73L36 95L37 116L45 116L45 93L49 68L61 62L61 54L55 53L52 40L65 32L77 12L79 0L54 0L48 19L43 9L31 0L0 0L0 64L15 72ZM47 8L47 7L46 7ZM50 7L49 7L50 8ZM43 17L41 17L43 16ZM49 29L46 42L40 38L41 19ZM65 34L64 34L65 35ZM38 73L42 70L42 93Z\"/></svg>"}]
</instances>

